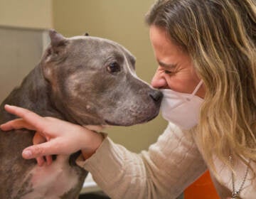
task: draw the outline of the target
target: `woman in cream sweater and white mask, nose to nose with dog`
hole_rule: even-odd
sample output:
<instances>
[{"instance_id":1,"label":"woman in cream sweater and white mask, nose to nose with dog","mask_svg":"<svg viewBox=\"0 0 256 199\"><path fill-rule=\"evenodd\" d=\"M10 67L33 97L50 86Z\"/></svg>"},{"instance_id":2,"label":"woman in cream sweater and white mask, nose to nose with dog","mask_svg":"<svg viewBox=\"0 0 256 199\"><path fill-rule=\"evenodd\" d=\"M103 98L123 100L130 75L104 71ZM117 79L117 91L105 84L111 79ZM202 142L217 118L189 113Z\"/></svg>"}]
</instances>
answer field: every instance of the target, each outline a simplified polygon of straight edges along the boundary
<instances>
[{"instance_id":1,"label":"woman in cream sweater and white mask, nose to nose with dog","mask_svg":"<svg viewBox=\"0 0 256 199\"><path fill-rule=\"evenodd\" d=\"M146 22L159 63L151 85L169 121L149 151L18 107L6 110L22 119L1 129L46 138L23 151L40 164L82 150L77 163L111 198L176 198L207 168L220 198L256 198L255 0L159 0Z\"/></svg>"}]
</instances>

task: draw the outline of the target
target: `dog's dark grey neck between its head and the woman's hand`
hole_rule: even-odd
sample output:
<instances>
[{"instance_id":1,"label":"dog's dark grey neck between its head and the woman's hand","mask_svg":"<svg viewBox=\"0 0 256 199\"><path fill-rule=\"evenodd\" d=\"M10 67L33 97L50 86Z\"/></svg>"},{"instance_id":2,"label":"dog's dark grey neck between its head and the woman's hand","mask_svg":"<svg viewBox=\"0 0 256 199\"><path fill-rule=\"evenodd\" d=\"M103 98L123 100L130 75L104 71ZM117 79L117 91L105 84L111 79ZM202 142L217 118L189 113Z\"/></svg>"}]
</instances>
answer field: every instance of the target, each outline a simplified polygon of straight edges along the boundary
<instances>
[{"instance_id":1,"label":"dog's dark grey neck between its head and the woman's hand","mask_svg":"<svg viewBox=\"0 0 256 199\"><path fill-rule=\"evenodd\" d=\"M4 104L30 109L41 116L58 117L63 119L63 114L58 112L50 100L50 84L43 77L41 64L38 64L2 102L0 114L4 114L3 120L13 119L14 116L4 112ZM5 122L5 121L2 121Z\"/></svg>"}]
</instances>

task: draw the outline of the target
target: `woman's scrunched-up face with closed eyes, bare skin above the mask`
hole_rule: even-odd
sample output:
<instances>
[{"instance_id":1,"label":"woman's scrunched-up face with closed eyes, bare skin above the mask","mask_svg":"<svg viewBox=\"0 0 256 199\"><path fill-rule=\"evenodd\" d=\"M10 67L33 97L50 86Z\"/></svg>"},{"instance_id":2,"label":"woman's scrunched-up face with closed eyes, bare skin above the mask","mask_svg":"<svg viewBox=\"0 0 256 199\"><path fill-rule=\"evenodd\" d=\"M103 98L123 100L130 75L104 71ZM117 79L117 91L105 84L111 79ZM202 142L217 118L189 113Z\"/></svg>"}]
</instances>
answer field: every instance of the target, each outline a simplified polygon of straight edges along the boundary
<instances>
[{"instance_id":1,"label":"woman's scrunched-up face with closed eyes, bare skin above the mask","mask_svg":"<svg viewBox=\"0 0 256 199\"><path fill-rule=\"evenodd\" d=\"M200 79L196 75L189 55L171 41L164 28L151 26L149 36L158 63L151 85L159 89L192 93ZM203 85L196 95L204 97Z\"/></svg>"}]
</instances>

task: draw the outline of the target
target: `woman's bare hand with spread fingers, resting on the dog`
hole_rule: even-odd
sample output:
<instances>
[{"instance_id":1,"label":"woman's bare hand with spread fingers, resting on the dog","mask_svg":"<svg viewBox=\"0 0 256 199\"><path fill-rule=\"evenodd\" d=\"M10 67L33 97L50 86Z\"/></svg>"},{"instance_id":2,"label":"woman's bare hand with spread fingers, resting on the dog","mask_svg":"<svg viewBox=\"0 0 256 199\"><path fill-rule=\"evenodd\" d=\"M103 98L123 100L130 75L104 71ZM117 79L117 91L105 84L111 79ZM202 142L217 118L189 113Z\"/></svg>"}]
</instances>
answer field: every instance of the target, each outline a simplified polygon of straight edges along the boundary
<instances>
[{"instance_id":1,"label":"woman's bare hand with spread fingers, resting on the dog","mask_svg":"<svg viewBox=\"0 0 256 199\"><path fill-rule=\"evenodd\" d=\"M25 128L36 131L33 139L36 145L24 149L22 156L26 159L36 158L39 165L44 162L43 156L46 156L47 162L50 163L51 159L48 159L50 155L70 155L79 150L82 150L82 154L88 158L102 143L102 134L85 127L53 117L41 117L20 107L6 105L5 109L21 119L1 124L2 130Z\"/></svg>"}]
</instances>

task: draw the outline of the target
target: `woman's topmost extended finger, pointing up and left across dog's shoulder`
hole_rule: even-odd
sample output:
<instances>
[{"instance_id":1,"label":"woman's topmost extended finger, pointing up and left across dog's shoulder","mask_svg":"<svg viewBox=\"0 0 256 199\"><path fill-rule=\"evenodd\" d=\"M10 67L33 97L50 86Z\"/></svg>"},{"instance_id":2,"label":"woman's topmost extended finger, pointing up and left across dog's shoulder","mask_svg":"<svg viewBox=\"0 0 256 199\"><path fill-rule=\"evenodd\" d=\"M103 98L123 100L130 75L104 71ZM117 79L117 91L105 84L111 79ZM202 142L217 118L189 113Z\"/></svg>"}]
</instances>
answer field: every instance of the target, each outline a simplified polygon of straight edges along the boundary
<instances>
[{"instance_id":1,"label":"woman's topmost extended finger, pointing up and left across dog's shoulder","mask_svg":"<svg viewBox=\"0 0 256 199\"><path fill-rule=\"evenodd\" d=\"M38 114L29 111L28 109L23 109L21 107L15 107L11 105L5 105L4 108L7 112L11 114L15 114L18 117L21 117L26 122L28 122L29 125L35 127L35 129L42 129L42 127L45 125L45 119Z\"/></svg>"}]
</instances>

